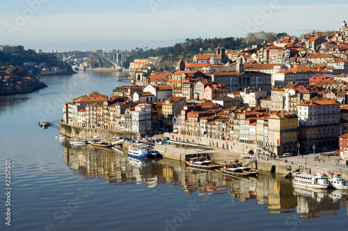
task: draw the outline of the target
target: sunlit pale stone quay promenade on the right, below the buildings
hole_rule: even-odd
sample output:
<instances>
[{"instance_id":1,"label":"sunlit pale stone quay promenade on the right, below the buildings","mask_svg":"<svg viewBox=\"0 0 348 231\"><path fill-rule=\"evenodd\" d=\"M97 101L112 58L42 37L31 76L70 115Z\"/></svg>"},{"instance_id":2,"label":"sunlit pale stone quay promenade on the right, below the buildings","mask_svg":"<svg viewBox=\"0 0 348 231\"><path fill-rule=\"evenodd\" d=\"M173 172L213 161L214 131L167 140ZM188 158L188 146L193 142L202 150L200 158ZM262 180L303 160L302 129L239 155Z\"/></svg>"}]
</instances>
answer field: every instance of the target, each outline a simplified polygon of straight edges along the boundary
<instances>
[{"instance_id":1,"label":"sunlit pale stone quay promenade on the right, below the buildings","mask_svg":"<svg viewBox=\"0 0 348 231\"><path fill-rule=\"evenodd\" d=\"M239 159L240 162L246 164L253 158L258 160L258 169L262 171L271 171L274 169L276 173L287 174L289 172L294 173L296 169L300 169L301 172L315 173L322 171L331 171L334 173L340 173L344 178L348 178L348 168L335 166L335 162L340 160L340 156L329 156L321 154L329 153L313 153L308 155L281 157L271 159L262 155L250 155L250 154L238 154L230 151L224 151L220 149L209 148L207 150L194 149L194 148L182 148L169 144L156 145L155 149L159 151L164 158L184 161L184 155L193 153L207 153L212 160L218 162L229 162L231 160ZM255 166L253 164L253 166Z\"/></svg>"}]
</instances>

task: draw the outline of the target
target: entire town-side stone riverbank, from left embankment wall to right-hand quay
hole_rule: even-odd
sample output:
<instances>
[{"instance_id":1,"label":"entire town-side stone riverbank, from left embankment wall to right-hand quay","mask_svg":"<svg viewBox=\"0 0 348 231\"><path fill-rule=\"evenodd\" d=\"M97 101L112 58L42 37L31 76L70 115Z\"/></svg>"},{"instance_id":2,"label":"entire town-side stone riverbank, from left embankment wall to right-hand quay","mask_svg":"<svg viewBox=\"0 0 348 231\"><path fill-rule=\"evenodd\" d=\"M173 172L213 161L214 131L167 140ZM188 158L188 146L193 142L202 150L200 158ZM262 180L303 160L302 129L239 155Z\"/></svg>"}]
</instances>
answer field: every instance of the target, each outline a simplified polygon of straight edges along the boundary
<instances>
[{"instance_id":1,"label":"entire town-side stone riverbank, from left embankment wall to right-hand quay","mask_svg":"<svg viewBox=\"0 0 348 231\"><path fill-rule=\"evenodd\" d=\"M112 137L120 137L125 135L123 131L115 130L105 130L101 128L75 128L61 123L61 134L67 135L68 137L77 137L79 139L87 139L87 137L99 137L102 142L109 142ZM134 134L133 134L134 135ZM127 137L133 136L130 132ZM166 135L168 136L168 135ZM155 135L152 139L162 138L164 134ZM127 147L127 142L125 142ZM269 172L276 172L280 174L287 175L288 173L294 173L299 169L302 173L314 173L316 171L331 171L335 173L340 173L343 177L348 178L348 168L342 168L335 166L334 163L340 160L340 156L329 156L315 154L301 155L301 157L283 157L271 159L267 156L262 155L251 155L251 154L241 154L234 153L232 151L216 149L216 148L205 148L194 149L194 148L183 148L179 146L174 146L170 144L156 145L155 148L164 158L171 160L184 161L186 154L193 153L207 153L212 160L217 162L230 162L231 160L238 159L243 164L251 162L253 158L257 160L256 164L251 166Z\"/></svg>"}]
</instances>

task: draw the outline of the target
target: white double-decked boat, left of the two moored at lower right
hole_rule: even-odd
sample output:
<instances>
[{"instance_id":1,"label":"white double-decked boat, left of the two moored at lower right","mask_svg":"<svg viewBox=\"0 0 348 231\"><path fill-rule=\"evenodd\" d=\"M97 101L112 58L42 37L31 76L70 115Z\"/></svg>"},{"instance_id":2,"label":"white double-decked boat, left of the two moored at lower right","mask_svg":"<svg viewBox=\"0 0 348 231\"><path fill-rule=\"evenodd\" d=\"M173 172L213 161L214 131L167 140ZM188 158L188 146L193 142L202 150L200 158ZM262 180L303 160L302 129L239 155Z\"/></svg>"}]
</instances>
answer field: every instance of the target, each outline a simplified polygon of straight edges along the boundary
<instances>
[{"instance_id":1,"label":"white double-decked boat, left of the two moored at lower right","mask_svg":"<svg viewBox=\"0 0 348 231\"><path fill-rule=\"evenodd\" d=\"M292 182L294 185L311 187L313 189L327 189L330 185L329 180L322 176L314 176L299 172L294 173L294 180Z\"/></svg>"}]
</instances>

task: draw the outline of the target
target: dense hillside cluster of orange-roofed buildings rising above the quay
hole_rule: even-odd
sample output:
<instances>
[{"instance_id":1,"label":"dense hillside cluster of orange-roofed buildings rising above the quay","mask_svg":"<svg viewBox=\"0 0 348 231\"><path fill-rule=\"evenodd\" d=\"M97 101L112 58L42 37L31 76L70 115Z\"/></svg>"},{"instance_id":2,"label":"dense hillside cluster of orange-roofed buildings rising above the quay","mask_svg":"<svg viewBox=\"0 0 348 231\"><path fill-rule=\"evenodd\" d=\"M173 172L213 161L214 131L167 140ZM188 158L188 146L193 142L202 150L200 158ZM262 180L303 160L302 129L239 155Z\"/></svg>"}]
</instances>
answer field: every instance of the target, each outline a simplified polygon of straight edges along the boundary
<instances>
[{"instance_id":1,"label":"dense hillside cluster of orange-roofed buildings rising above the quay","mask_svg":"<svg viewBox=\"0 0 348 231\"><path fill-rule=\"evenodd\" d=\"M341 37L346 27L340 28ZM116 87L111 96L65 103L62 123L80 137L117 132L143 137L168 130L174 141L236 153L283 155L340 146L343 155L348 148L341 147L348 126L348 62L342 54L347 41L337 39L340 55L328 55L329 43L320 41L333 42L333 37L283 37L254 53L218 49L181 60L173 73L137 69L131 85ZM274 62L279 55L273 46L296 62ZM260 52L268 58L261 59Z\"/></svg>"}]
</instances>

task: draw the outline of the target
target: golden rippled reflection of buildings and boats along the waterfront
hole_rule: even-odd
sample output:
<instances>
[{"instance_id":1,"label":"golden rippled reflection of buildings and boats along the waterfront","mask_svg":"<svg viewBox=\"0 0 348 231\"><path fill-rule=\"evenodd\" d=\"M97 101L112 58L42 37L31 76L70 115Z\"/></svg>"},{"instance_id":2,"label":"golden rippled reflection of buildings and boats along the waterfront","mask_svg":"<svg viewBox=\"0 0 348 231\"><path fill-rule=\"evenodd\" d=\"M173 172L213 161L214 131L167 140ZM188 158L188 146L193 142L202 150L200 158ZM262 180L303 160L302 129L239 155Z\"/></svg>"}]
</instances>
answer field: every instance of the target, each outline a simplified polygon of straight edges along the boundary
<instances>
[{"instance_id":1,"label":"golden rippled reflection of buildings and boats along the waterfront","mask_svg":"<svg viewBox=\"0 0 348 231\"><path fill-rule=\"evenodd\" d=\"M258 204L268 205L270 213L274 214L296 212L302 218L315 219L335 215L338 209L347 208L348 192L293 188L291 180L271 173L238 178L225 176L220 171L188 168L184 162L139 160L128 157L126 150L97 150L90 146L65 146L64 157L70 169L85 178L146 187L171 183L171 186L182 185L186 194L230 194L241 202L256 200Z\"/></svg>"}]
</instances>

